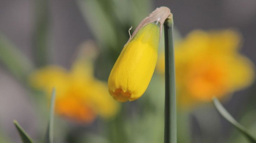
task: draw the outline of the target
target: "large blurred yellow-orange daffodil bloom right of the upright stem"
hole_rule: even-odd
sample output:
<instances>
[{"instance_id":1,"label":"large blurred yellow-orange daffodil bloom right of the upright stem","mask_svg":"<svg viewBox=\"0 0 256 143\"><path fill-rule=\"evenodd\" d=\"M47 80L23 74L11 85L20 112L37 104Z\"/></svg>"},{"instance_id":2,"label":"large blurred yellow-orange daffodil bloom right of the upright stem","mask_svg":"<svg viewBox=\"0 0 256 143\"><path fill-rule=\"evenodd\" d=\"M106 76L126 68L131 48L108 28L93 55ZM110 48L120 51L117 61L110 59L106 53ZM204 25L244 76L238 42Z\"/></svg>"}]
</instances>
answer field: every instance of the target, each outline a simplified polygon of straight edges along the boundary
<instances>
[{"instance_id":1,"label":"large blurred yellow-orange daffodil bloom right of the upright stem","mask_svg":"<svg viewBox=\"0 0 256 143\"><path fill-rule=\"evenodd\" d=\"M188 106L223 98L250 85L254 65L238 50L241 37L233 30L195 30L175 45L177 99ZM157 63L164 73L164 54Z\"/></svg>"}]
</instances>

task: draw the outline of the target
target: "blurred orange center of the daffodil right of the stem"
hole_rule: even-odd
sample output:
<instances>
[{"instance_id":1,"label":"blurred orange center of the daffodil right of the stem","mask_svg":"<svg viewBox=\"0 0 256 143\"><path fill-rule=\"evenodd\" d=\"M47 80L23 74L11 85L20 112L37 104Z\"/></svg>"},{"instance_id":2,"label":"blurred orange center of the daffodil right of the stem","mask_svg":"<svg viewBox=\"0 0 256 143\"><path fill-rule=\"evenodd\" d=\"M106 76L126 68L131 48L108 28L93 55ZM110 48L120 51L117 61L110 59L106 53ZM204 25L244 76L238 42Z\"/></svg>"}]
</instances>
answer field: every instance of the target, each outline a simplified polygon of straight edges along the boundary
<instances>
[{"instance_id":1,"label":"blurred orange center of the daffodil right of the stem","mask_svg":"<svg viewBox=\"0 0 256 143\"><path fill-rule=\"evenodd\" d=\"M211 100L213 96L223 95L228 89L226 84L225 73L220 65L201 61L201 65L194 65L188 71L186 86L191 95L200 100Z\"/></svg>"}]
</instances>

